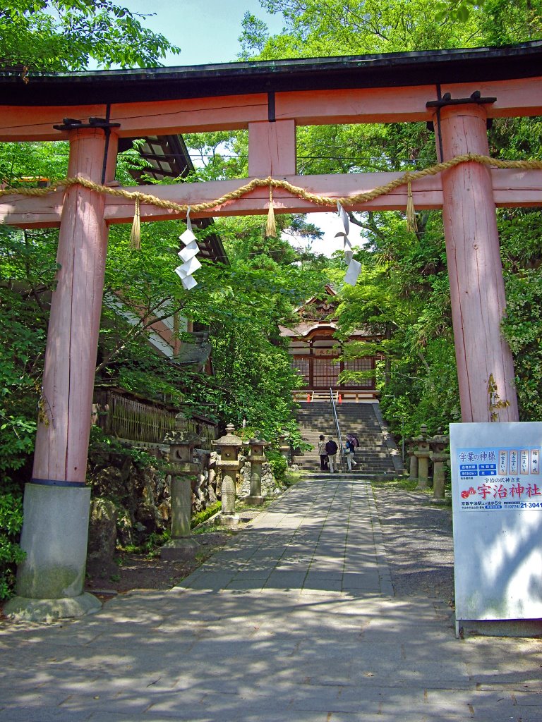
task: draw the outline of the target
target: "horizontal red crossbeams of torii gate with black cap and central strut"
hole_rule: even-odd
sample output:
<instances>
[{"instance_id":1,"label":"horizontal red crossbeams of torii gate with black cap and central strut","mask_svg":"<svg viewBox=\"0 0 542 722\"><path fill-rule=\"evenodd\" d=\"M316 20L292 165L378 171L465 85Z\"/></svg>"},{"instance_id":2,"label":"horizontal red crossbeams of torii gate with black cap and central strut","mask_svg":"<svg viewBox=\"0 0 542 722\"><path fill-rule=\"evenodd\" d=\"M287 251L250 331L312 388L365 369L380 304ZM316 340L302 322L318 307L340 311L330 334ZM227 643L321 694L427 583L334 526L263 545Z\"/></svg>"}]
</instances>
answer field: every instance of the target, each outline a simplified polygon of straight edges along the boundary
<instances>
[{"instance_id":1,"label":"horizontal red crossbeams of torii gate with black cap and central strut","mask_svg":"<svg viewBox=\"0 0 542 722\"><path fill-rule=\"evenodd\" d=\"M108 163L116 155L116 140L145 136L248 129L249 178L282 179L310 189L313 196L345 198L394 181L393 173L304 176L296 175L296 128L332 123L432 122L446 114L444 98L466 101L473 95L486 100L486 118L542 114L542 41L506 48L471 48L377 56L296 58L185 68L85 71L39 74L21 78L4 71L0 76L0 142L74 140L93 126L103 136L100 122L111 133ZM538 73L538 75L537 75ZM473 104L481 102L473 100ZM434 107L437 105L438 107ZM76 122L63 123L64 118ZM79 129L77 123L80 123ZM93 125L94 123L94 125ZM457 155L457 152L452 153ZM439 141L439 160L442 142ZM450 156L449 156L450 157ZM102 161L102 183L106 162ZM75 169L74 169L75 170ZM79 170L77 170L79 173ZM105 175L104 175L105 174ZM525 174L492 170L497 205L542 204ZM538 186L542 171L530 178ZM533 181L534 178L534 181ZM108 176L111 180L111 173ZM100 180L100 177L98 177ZM199 215L266 213L267 188L244 198L210 203L238 191L240 181L186 183L183 197L194 206L207 204L212 212ZM439 176L412 184L416 208L442 207ZM178 197L175 186L155 187L153 195L168 203ZM132 220L134 201L107 198L104 217L108 223ZM363 201L364 209L405 209L405 185L378 199ZM278 189L277 212L329 210L331 204L293 197ZM355 203L351 209L361 209ZM27 199L15 199L0 209L0 220L11 225L46 227L59 225L61 193L49 196L33 212ZM142 221L179 217L177 209L143 203Z\"/></svg>"}]
</instances>

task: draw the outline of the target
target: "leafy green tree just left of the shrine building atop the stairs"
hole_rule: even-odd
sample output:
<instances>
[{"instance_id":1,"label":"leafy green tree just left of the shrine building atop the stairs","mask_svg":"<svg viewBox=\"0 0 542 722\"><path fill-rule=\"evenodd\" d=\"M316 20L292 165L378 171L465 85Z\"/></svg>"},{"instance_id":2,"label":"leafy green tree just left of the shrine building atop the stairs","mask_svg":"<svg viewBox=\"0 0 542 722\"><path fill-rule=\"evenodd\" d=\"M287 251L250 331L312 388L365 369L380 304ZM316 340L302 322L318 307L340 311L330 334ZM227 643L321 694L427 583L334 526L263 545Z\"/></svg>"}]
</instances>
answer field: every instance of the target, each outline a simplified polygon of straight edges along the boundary
<instances>
[{"instance_id":1,"label":"leafy green tree just left of the shrine building atop the stairs","mask_svg":"<svg viewBox=\"0 0 542 722\"><path fill-rule=\"evenodd\" d=\"M295 437L291 391L298 378L278 327L294 323L295 308L322 290L322 264L318 259L301 260L280 238L264 238L262 218L217 219L216 226L230 265L207 269L216 274L214 290L206 283L216 301L207 323L216 380L229 389L224 420L240 424L246 419L269 440L283 428ZM196 313L194 309L194 318L205 321Z\"/></svg>"}]
</instances>

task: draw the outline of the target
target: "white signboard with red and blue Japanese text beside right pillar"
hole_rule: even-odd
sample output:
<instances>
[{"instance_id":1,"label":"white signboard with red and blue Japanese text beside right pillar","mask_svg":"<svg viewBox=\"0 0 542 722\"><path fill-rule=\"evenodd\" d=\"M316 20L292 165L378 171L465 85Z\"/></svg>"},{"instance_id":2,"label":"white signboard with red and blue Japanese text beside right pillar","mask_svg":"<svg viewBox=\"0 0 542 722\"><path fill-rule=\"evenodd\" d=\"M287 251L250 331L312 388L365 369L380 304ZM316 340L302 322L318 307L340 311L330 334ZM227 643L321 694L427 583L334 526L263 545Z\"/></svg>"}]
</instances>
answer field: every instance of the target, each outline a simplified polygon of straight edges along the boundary
<instances>
[{"instance_id":1,"label":"white signboard with red and blue Japanese text beside right pillar","mask_svg":"<svg viewBox=\"0 0 542 722\"><path fill-rule=\"evenodd\" d=\"M455 616L542 617L542 422L451 424Z\"/></svg>"}]
</instances>

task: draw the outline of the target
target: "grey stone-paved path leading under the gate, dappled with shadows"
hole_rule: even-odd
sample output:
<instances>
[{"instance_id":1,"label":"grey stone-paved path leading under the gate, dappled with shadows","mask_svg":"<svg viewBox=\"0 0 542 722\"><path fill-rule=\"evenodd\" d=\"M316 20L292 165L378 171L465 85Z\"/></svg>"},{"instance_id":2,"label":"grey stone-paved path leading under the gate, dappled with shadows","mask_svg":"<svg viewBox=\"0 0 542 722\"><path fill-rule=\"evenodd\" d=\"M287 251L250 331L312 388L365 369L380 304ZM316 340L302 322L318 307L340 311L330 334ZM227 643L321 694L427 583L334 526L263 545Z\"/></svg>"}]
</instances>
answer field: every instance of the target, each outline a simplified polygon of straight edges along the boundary
<instances>
[{"instance_id":1,"label":"grey stone-paved path leading under the gate, dappled with shadows","mask_svg":"<svg viewBox=\"0 0 542 722\"><path fill-rule=\"evenodd\" d=\"M292 487L169 592L3 625L0 722L542 721L539 640L393 596L370 487Z\"/></svg>"}]
</instances>

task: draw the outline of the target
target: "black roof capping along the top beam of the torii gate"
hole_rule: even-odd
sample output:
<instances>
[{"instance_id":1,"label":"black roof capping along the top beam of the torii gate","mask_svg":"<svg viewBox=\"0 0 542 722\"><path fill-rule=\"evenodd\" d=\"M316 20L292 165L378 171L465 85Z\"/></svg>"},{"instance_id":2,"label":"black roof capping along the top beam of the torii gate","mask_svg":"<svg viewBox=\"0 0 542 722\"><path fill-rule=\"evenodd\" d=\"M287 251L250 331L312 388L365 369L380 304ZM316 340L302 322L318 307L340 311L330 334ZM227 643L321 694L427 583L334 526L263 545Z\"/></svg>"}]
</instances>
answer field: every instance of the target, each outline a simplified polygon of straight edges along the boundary
<instances>
[{"instance_id":1,"label":"black roof capping along the top beam of the torii gate","mask_svg":"<svg viewBox=\"0 0 542 722\"><path fill-rule=\"evenodd\" d=\"M536 77L542 41L331 58L135 70L32 73L0 69L0 105L131 103L296 90L404 87Z\"/></svg>"}]
</instances>

